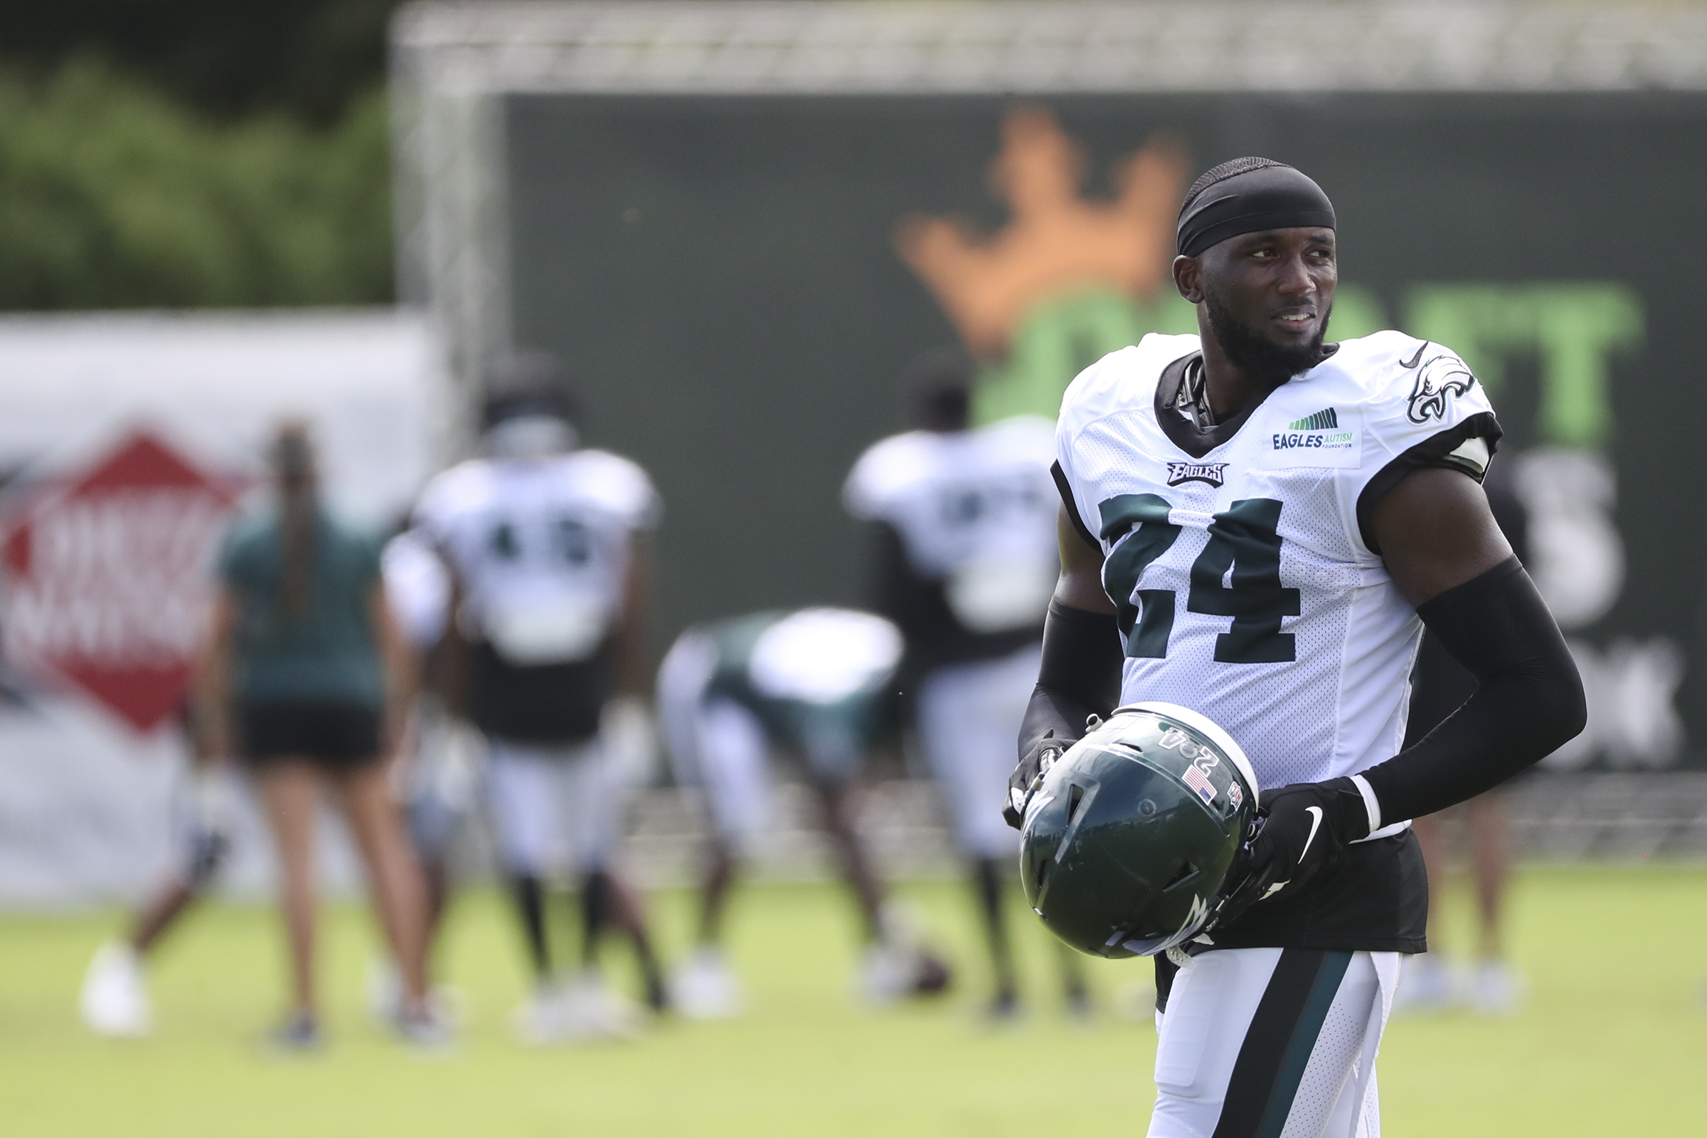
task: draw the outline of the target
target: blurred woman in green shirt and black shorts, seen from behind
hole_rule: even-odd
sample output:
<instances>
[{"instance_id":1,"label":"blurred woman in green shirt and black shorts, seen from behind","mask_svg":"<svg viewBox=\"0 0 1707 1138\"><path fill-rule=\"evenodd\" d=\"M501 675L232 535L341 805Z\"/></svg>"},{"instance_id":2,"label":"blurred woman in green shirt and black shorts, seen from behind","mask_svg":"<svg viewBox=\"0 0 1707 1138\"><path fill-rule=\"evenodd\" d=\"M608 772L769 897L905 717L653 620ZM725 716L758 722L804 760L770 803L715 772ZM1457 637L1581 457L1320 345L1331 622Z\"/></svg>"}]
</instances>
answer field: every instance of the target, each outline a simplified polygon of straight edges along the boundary
<instances>
[{"instance_id":1,"label":"blurred woman in green shirt and black shorts, seen from behind","mask_svg":"<svg viewBox=\"0 0 1707 1138\"><path fill-rule=\"evenodd\" d=\"M278 846L292 1010L271 1042L321 1042L314 821L329 788L403 976L394 1027L417 1044L440 1044L447 1029L427 1000L420 870L386 785L384 756L401 734L411 679L381 585L379 548L321 508L304 427L278 432L271 464L271 507L227 537L198 672L207 746L248 764Z\"/></svg>"}]
</instances>

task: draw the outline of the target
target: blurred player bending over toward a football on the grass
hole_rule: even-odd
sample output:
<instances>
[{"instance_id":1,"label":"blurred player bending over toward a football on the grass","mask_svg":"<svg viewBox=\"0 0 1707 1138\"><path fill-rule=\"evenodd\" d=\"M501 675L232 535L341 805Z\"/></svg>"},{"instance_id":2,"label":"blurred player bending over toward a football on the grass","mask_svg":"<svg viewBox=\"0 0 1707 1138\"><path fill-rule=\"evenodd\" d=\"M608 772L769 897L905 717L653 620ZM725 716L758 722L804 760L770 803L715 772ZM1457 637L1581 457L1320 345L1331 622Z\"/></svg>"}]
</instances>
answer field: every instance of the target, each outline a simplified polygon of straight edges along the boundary
<instances>
[{"instance_id":1,"label":"blurred player bending over toward a football on the grass","mask_svg":"<svg viewBox=\"0 0 1707 1138\"><path fill-rule=\"evenodd\" d=\"M824 831L864 921L859 993L872 1003L941 991L947 966L884 904L857 829L855 783L877 744L901 635L848 609L758 613L685 631L659 669L659 718L676 781L708 814L698 945L673 978L676 1008L734 1015L741 984L722 952L737 860L768 821L768 764L787 756L818 793Z\"/></svg>"}]
</instances>

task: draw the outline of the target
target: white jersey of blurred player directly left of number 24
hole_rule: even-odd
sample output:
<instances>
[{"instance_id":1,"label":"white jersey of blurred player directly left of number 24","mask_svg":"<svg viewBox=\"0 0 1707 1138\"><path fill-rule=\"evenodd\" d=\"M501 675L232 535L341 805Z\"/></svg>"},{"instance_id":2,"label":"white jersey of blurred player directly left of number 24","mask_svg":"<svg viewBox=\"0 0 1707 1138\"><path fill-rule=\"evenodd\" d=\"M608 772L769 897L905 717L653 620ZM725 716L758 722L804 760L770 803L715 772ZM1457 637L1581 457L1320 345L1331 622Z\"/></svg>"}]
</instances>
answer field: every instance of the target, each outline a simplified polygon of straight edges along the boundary
<instances>
[{"instance_id":1,"label":"white jersey of blurred player directly left of number 24","mask_svg":"<svg viewBox=\"0 0 1707 1138\"><path fill-rule=\"evenodd\" d=\"M852 515L894 527L966 630L1002 633L1036 626L1055 590L1053 459L1048 420L1029 415L915 430L865 450L843 498Z\"/></svg>"}]
</instances>

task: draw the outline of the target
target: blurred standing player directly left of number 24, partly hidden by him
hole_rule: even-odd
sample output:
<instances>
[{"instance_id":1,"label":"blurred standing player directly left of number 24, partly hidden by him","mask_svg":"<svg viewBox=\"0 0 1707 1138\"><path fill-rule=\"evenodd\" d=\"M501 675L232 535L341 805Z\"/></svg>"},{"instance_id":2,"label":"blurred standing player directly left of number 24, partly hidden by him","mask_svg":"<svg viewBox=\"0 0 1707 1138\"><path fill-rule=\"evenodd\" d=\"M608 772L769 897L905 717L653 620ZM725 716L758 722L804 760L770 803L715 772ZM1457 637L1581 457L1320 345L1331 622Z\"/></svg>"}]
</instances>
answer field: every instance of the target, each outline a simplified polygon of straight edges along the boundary
<instances>
[{"instance_id":1,"label":"blurred standing player directly left of number 24, partly hidden by him","mask_svg":"<svg viewBox=\"0 0 1707 1138\"><path fill-rule=\"evenodd\" d=\"M1002 894L1019 836L990 804L1007 795L1060 572L1055 425L971 428L973 369L959 353L920 360L908 377L915 430L860 456L843 496L877 534L876 604L906 640L901 688L917 693L918 740L971 863L995 969L990 1013L1009 1019L1019 993ZM1069 1007L1082 1013L1081 969L1065 950L1062 961Z\"/></svg>"}]
</instances>

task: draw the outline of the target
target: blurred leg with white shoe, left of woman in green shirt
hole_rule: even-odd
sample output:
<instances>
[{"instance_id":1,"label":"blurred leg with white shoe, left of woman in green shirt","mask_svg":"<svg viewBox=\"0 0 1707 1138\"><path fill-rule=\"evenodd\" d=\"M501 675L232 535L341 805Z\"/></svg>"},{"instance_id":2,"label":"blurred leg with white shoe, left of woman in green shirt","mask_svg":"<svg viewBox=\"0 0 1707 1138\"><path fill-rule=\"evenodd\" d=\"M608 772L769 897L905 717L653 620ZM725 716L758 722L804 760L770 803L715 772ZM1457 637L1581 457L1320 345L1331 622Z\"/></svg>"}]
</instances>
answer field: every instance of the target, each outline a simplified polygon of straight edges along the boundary
<instances>
[{"instance_id":1,"label":"blurred leg with white shoe, left of woman in green shirt","mask_svg":"<svg viewBox=\"0 0 1707 1138\"><path fill-rule=\"evenodd\" d=\"M159 889L133 913L130 930L96 952L84 976L79 1008L84 1024L101 1036L147 1036L154 1031L145 964L172 928L210 889L230 850L232 775L208 752L191 722L191 703L179 711L188 769L172 795L176 862Z\"/></svg>"}]
</instances>

